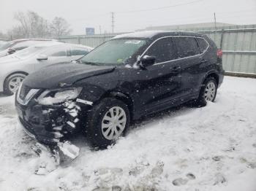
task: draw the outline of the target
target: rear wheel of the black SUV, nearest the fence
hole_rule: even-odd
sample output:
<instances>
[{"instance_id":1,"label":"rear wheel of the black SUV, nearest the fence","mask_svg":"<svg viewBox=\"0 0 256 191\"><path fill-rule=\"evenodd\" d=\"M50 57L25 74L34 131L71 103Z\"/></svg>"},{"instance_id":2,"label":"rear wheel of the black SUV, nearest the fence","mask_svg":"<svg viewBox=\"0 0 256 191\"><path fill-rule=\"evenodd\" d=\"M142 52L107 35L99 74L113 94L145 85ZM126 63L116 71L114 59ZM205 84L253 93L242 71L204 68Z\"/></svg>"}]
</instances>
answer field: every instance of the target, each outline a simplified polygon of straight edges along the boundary
<instances>
[{"instance_id":1,"label":"rear wheel of the black SUV, nearest the fence","mask_svg":"<svg viewBox=\"0 0 256 191\"><path fill-rule=\"evenodd\" d=\"M217 82L214 77L208 77L201 86L199 96L196 100L189 102L190 106L206 106L207 101L214 102L217 94Z\"/></svg>"}]
</instances>

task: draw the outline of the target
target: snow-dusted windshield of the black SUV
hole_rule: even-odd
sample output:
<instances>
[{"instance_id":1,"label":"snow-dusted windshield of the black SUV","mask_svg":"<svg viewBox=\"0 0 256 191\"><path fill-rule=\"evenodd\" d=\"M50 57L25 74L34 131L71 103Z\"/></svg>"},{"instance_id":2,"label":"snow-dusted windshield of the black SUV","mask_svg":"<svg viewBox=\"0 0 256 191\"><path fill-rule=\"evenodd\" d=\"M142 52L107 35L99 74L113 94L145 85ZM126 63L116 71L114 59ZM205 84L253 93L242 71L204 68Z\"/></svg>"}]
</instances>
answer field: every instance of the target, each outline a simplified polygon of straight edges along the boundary
<instances>
[{"instance_id":1,"label":"snow-dusted windshield of the black SUV","mask_svg":"<svg viewBox=\"0 0 256 191\"><path fill-rule=\"evenodd\" d=\"M145 44L145 39L113 39L89 52L80 59L80 63L99 66L122 65L137 55L140 47Z\"/></svg>"}]
</instances>

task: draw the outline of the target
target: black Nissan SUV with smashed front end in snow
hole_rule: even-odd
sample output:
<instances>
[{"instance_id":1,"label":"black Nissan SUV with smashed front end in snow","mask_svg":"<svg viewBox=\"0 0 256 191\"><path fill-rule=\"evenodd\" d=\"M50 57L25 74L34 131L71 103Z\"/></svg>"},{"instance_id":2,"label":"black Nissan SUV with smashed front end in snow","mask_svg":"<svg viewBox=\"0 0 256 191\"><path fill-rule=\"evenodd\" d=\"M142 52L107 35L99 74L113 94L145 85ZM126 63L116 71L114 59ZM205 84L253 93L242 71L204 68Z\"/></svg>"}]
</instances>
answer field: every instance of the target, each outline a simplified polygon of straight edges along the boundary
<instances>
[{"instance_id":1,"label":"black Nissan SUV with smashed front end in snow","mask_svg":"<svg viewBox=\"0 0 256 191\"><path fill-rule=\"evenodd\" d=\"M15 105L23 129L37 141L56 144L82 130L104 148L131 120L185 102L214 101L223 74L222 51L204 34L123 34L78 61L30 74Z\"/></svg>"}]
</instances>

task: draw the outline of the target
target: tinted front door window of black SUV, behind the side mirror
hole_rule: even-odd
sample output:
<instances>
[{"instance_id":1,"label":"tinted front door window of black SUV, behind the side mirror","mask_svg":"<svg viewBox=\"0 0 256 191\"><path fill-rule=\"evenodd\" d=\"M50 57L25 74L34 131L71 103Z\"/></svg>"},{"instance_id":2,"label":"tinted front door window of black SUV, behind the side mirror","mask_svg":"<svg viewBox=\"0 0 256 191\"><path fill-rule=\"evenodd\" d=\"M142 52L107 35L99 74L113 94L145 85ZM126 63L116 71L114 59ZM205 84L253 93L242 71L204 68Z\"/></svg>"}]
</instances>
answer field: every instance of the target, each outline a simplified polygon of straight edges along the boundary
<instances>
[{"instance_id":1,"label":"tinted front door window of black SUV, behind the side mirror","mask_svg":"<svg viewBox=\"0 0 256 191\"><path fill-rule=\"evenodd\" d=\"M156 57L156 63L162 63L176 59L176 50L171 38L159 39L146 52L146 55Z\"/></svg>"}]
</instances>

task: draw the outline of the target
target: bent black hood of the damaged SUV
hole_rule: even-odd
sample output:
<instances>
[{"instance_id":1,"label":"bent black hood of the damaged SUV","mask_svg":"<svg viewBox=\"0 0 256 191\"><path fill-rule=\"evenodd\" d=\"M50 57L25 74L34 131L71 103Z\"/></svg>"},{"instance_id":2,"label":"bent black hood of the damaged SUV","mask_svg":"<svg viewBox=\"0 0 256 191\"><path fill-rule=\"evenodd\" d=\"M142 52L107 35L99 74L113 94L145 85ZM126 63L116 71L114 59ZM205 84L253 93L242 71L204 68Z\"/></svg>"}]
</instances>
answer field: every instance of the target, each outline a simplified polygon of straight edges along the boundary
<instances>
[{"instance_id":1,"label":"bent black hood of the damaged SUV","mask_svg":"<svg viewBox=\"0 0 256 191\"><path fill-rule=\"evenodd\" d=\"M80 63L57 63L29 74L23 85L33 88L52 89L61 85L72 85L85 79L114 70L114 66L90 66Z\"/></svg>"}]
</instances>

